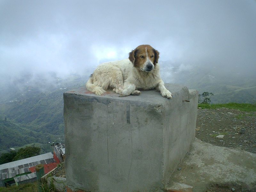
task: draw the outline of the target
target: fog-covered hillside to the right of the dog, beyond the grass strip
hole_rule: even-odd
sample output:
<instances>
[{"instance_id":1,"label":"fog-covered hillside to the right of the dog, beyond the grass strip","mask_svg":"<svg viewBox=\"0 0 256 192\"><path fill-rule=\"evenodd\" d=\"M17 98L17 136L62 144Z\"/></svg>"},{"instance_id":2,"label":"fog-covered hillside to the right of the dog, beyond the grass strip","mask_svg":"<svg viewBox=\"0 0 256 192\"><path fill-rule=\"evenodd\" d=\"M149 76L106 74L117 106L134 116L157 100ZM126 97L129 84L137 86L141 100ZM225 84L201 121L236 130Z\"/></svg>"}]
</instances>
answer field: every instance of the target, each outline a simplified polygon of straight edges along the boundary
<instances>
[{"instance_id":1,"label":"fog-covered hillside to the right of the dog, beyond the grass strip","mask_svg":"<svg viewBox=\"0 0 256 192\"><path fill-rule=\"evenodd\" d=\"M212 103L256 103L256 74L240 74L207 66L193 66L182 70L176 67L169 68L168 71L171 83L184 84L189 89L198 90L200 94L212 92Z\"/></svg>"}]
</instances>

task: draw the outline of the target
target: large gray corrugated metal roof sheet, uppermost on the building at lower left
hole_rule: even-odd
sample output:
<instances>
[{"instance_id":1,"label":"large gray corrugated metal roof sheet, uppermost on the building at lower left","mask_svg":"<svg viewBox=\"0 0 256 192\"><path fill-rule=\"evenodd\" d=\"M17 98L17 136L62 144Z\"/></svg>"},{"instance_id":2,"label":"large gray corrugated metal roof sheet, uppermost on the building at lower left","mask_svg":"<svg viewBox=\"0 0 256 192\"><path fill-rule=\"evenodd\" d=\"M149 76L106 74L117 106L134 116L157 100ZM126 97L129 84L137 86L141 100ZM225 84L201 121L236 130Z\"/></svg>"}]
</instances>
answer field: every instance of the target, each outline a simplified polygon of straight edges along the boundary
<instances>
[{"instance_id":1,"label":"large gray corrugated metal roof sheet, uppermost on the building at lower left","mask_svg":"<svg viewBox=\"0 0 256 192\"><path fill-rule=\"evenodd\" d=\"M28 168L34 167L37 164L54 163L52 152L45 153L38 156L13 161L0 165L0 180L15 177L17 174L30 172Z\"/></svg>"}]
</instances>

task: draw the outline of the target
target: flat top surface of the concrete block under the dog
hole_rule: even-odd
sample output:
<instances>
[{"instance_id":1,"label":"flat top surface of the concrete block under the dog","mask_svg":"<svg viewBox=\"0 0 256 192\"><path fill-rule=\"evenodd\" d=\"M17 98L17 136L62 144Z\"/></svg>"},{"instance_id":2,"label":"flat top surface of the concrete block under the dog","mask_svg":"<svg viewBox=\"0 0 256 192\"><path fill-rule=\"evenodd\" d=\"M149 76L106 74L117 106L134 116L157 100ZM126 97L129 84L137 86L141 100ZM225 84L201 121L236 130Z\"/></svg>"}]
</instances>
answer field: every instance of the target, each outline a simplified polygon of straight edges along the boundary
<instances>
[{"instance_id":1,"label":"flat top surface of the concrete block under the dog","mask_svg":"<svg viewBox=\"0 0 256 192\"><path fill-rule=\"evenodd\" d=\"M151 103L151 104L164 104L166 102L172 102L172 100L189 100L189 97L191 97L191 91L188 90L188 88L184 85L179 84L165 84L166 89L168 89L172 93L172 99L167 99L165 97L162 97L160 92L157 92L155 89L153 90L147 90L147 91L141 91L140 95L134 96L129 95L125 97L119 97L119 94L112 92L112 90L108 90L103 95L95 95L92 92L87 91L86 87L81 87L80 89L75 89L73 91L68 91L64 93L64 96L66 94L74 94L74 95L80 95L80 96L86 96L86 97L93 97L95 99L103 99L108 98L111 100L118 100L118 101L135 101L135 102L143 102L143 103ZM190 93L190 95L189 95ZM192 92L192 95L196 94L196 92Z\"/></svg>"}]
</instances>

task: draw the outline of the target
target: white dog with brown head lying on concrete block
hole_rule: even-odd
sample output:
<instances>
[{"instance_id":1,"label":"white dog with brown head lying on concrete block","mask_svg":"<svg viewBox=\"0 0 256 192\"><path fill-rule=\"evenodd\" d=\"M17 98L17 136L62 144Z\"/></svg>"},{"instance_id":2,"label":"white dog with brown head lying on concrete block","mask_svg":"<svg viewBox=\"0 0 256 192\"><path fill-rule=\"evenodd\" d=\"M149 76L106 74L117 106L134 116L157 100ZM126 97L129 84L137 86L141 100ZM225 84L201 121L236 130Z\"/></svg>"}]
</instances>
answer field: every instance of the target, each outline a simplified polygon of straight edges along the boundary
<instances>
[{"instance_id":1,"label":"white dog with brown head lying on concrete block","mask_svg":"<svg viewBox=\"0 0 256 192\"><path fill-rule=\"evenodd\" d=\"M159 52L150 45L139 45L129 53L129 59L100 64L86 83L88 91L102 95L107 89L120 97L140 95L139 90L156 89L163 97L172 98L159 72Z\"/></svg>"}]
</instances>

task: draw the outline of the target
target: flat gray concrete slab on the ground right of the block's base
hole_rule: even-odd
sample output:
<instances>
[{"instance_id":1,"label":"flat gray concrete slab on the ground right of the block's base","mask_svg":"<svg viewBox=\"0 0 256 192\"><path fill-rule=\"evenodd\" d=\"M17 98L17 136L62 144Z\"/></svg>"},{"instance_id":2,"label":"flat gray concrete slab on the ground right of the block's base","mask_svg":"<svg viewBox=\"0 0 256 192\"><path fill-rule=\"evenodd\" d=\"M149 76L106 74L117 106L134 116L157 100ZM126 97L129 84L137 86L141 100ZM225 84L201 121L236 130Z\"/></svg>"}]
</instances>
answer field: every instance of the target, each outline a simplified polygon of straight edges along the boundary
<instances>
[{"instance_id":1,"label":"flat gray concrete slab on the ground right of the block's base","mask_svg":"<svg viewBox=\"0 0 256 192\"><path fill-rule=\"evenodd\" d=\"M240 185L246 191L256 191L254 153L195 139L179 168L168 181L169 191L205 192L209 184L230 186L230 191Z\"/></svg>"}]
</instances>

